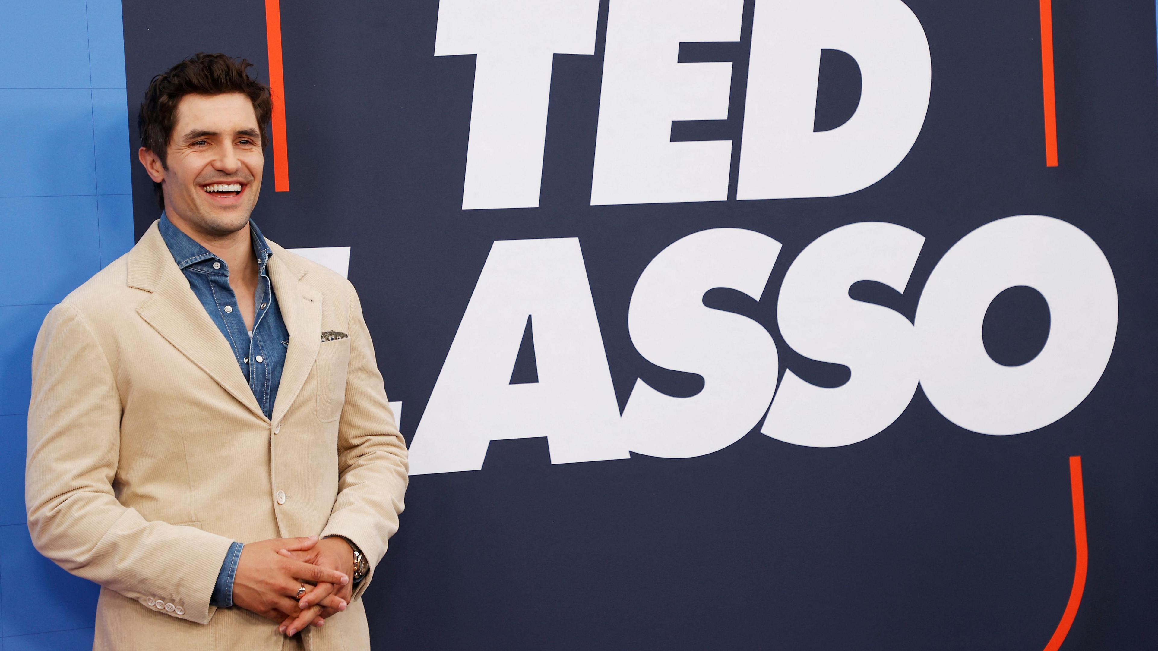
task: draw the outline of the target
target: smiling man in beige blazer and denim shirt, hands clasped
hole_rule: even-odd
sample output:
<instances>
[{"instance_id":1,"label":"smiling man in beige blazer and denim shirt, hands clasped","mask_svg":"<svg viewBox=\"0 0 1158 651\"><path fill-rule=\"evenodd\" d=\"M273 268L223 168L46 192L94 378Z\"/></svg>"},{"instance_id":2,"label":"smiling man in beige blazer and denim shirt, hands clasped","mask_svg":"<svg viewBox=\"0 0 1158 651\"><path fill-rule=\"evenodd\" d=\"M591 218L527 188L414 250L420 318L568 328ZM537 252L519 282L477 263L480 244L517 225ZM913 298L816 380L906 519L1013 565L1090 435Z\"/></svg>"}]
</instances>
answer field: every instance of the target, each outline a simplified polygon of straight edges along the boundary
<instances>
[{"instance_id":1,"label":"smiling man in beige blazer and denim shirt, hands clasped","mask_svg":"<svg viewBox=\"0 0 1158 651\"><path fill-rule=\"evenodd\" d=\"M96 649L369 648L405 441L353 287L249 219L271 101L248 67L154 78L161 218L36 341L28 526L101 584Z\"/></svg>"}]
</instances>

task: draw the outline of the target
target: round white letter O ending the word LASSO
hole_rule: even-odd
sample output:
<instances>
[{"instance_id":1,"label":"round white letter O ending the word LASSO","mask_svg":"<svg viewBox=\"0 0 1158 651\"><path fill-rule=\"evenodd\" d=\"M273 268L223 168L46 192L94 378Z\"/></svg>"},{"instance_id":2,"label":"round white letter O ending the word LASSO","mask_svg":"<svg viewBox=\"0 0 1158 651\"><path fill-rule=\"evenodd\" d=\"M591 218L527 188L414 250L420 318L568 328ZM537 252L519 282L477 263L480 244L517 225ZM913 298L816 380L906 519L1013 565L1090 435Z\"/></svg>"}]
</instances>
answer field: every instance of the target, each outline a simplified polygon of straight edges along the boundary
<instances>
[{"instance_id":1,"label":"round white letter O ending the word LASSO","mask_svg":"<svg viewBox=\"0 0 1158 651\"><path fill-rule=\"evenodd\" d=\"M1001 292L1026 285L1049 303L1046 346L1002 366L981 326ZM1076 226L1041 215L999 219L969 233L937 263L917 307L921 386L938 411L983 434L1049 425L1101 378L1117 334L1117 287L1101 249Z\"/></svg>"}]
</instances>

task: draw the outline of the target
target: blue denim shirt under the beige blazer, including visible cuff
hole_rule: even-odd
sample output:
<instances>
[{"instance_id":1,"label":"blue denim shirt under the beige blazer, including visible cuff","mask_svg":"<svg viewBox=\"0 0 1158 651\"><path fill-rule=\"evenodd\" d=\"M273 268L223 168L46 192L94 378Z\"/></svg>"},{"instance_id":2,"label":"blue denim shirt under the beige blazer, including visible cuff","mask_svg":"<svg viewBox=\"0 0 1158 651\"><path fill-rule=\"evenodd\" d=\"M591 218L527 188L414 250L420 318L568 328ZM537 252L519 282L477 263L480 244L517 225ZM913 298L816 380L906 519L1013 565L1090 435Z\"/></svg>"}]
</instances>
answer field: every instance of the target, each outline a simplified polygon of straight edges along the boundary
<instances>
[{"instance_id":1,"label":"blue denim shirt under the beige blazer, including visible cuff","mask_svg":"<svg viewBox=\"0 0 1158 651\"><path fill-rule=\"evenodd\" d=\"M189 287L205 307L218 330L229 343L241 372L254 390L254 397L262 412L269 418L273 412L273 401L281 383L281 368L285 366L286 349L290 345L290 331L281 320L273 286L265 273L270 261L270 247L257 229L249 222L254 254L257 256L258 281L254 293L254 331L245 330L245 320L237 309L237 297L229 286L229 266L192 237L185 235L161 213L159 225L161 236L177 262L182 273L189 279ZM237 572L237 561L241 558L240 542L229 546L221 570L218 572L217 585L210 604L219 608L233 606L233 579Z\"/></svg>"}]
</instances>

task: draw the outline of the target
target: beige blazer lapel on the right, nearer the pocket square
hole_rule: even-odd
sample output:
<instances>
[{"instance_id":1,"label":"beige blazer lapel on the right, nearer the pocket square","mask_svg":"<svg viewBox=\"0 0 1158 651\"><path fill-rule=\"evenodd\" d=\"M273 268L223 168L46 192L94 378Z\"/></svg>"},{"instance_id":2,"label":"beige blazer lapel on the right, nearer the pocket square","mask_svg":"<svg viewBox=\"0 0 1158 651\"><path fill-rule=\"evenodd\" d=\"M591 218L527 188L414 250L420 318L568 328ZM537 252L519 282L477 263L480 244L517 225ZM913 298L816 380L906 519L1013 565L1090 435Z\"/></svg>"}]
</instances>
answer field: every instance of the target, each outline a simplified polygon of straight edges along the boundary
<instances>
[{"instance_id":1,"label":"beige blazer lapel on the right, nearer the pocket square","mask_svg":"<svg viewBox=\"0 0 1158 651\"><path fill-rule=\"evenodd\" d=\"M306 378L314 367L322 344L322 293L302 283L306 269L293 264L285 249L266 241L273 255L266 270L273 285L273 295L281 309L281 320L290 331L290 348L286 350L285 366L281 368L281 385L273 401L273 423L281 417L298 397Z\"/></svg>"}]
</instances>

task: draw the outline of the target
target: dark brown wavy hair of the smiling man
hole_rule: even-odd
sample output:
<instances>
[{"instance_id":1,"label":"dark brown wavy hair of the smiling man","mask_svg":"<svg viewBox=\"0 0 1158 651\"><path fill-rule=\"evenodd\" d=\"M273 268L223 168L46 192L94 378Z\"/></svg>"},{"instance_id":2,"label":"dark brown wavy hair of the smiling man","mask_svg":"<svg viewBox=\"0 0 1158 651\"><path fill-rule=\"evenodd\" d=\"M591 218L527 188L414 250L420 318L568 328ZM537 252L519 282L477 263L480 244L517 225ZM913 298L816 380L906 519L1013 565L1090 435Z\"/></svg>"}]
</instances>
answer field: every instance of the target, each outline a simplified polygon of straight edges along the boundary
<instances>
[{"instance_id":1,"label":"dark brown wavy hair of the smiling man","mask_svg":"<svg viewBox=\"0 0 1158 651\"><path fill-rule=\"evenodd\" d=\"M193 54L166 72L153 78L145 92L140 115L137 117L137 129L140 132L141 147L145 147L161 159L161 166L168 169L166 154L173 129L177 124L177 104L185 95L223 95L241 93L254 103L257 116L257 127L261 131L262 147L266 142L266 127L273 102L270 88L249 76L247 71L252 64L245 59L234 59L226 54ZM164 197L161 184L154 183L156 200L164 210Z\"/></svg>"}]
</instances>

